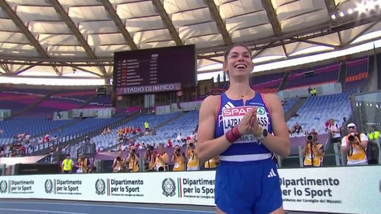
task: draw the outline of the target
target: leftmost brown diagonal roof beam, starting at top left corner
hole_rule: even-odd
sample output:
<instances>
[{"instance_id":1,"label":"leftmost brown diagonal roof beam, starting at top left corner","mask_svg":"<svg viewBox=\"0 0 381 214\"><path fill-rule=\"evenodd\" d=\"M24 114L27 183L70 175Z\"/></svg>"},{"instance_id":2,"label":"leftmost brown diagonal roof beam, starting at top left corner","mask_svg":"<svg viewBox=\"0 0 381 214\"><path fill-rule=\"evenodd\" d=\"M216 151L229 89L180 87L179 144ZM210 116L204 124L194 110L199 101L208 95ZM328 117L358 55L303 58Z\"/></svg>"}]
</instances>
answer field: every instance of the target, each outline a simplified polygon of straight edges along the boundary
<instances>
[{"instance_id":1,"label":"leftmost brown diagonal roof beam, starting at top left corner","mask_svg":"<svg viewBox=\"0 0 381 214\"><path fill-rule=\"evenodd\" d=\"M42 48L40 43L38 43L37 39L34 37L32 33L30 33L29 29L24 25L21 19L17 16L17 14L12 10L11 6L8 5L6 0L0 0L0 7L6 13L6 15L13 21L13 23L21 30L22 34L29 40L29 42L34 46L37 50L38 54L40 54L43 58L48 58L48 54Z\"/></svg>"}]
</instances>

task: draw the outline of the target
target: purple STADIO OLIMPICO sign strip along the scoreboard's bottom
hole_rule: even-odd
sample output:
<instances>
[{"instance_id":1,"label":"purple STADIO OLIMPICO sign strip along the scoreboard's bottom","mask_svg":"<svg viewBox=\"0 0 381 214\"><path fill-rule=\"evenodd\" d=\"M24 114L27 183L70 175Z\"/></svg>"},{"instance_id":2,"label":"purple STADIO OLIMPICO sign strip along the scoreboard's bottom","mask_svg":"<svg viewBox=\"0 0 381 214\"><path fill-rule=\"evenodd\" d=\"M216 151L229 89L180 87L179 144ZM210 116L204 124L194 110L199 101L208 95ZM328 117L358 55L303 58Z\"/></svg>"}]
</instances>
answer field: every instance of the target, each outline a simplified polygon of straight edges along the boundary
<instances>
[{"instance_id":1,"label":"purple STADIO OLIMPICO sign strip along the scoreboard's bottom","mask_svg":"<svg viewBox=\"0 0 381 214\"><path fill-rule=\"evenodd\" d=\"M131 87L117 88L117 95L151 93L151 92L158 92L158 91L178 91L178 90L181 90L181 83L131 86Z\"/></svg>"}]
</instances>

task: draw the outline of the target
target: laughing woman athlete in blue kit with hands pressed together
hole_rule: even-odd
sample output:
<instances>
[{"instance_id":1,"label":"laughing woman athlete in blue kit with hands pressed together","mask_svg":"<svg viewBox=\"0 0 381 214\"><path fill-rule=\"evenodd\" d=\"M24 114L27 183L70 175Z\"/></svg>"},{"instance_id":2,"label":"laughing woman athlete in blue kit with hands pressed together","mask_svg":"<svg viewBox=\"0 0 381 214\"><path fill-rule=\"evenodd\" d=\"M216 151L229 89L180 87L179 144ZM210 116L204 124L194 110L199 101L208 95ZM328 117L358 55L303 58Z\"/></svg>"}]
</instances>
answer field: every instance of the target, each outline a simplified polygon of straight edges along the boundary
<instances>
[{"instance_id":1,"label":"laughing woman athlete in blue kit with hands pressed together","mask_svg":"<svg viewBox=\"0 0 381 214\"><path fill-rule=\"evenodd\" d=\"M288 128L279 98L250 88L253 68L247 47L229 48L223 65L229 89L208 96L200 109L199 158L220 159L215 186L218 214L283 214L271 153L290 154Z\"/></svg>"}]
</instances>

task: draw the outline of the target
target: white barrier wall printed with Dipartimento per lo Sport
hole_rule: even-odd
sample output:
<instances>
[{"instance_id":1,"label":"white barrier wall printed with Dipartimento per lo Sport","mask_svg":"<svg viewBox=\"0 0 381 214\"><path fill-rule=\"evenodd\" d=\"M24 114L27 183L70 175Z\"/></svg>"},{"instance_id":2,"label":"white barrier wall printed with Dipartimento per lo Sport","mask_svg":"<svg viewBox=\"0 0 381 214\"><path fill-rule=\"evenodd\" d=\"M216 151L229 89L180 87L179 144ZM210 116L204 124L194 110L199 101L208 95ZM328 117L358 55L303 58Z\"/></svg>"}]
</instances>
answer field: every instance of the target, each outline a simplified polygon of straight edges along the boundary
<instances>
[{"instance_id":1,"label":"white barrier wall printed with Dipartimento per lo Sport","mask_svg":"<svg viewBox=\"0 0 381 214\"><path fill-rule=\"evenodd\" d=\"M381 210L381 166L279 169L279 174L286 210L351 214ZM3 176L0 198L215 206L214 186L214 171Z\"/></svg>"}]
</instances>

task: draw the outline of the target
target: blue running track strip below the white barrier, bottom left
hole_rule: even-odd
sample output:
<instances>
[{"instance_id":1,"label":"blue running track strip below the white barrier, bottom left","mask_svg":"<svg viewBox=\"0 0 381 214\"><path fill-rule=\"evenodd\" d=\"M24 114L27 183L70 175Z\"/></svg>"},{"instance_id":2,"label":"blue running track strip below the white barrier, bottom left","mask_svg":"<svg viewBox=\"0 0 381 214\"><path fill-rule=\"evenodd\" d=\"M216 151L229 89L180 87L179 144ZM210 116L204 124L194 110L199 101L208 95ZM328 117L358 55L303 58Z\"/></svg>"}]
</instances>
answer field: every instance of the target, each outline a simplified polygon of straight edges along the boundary
<instances>
[{"instance_id":1,"label":"blue running track strip below the white barrier, bottom left","mask_svg":"<svg viewBox=\"0 0 381 214\"><path fill-rule=\"evenodd\" d=\"M2 199L1 214L212 214L214 207L167 204L102 203L61 200ZM288 212L288 214L307 214ZM317 213L314 213L317 214Z\"/></svg>"}]
</instances>

